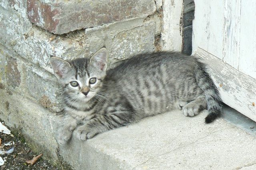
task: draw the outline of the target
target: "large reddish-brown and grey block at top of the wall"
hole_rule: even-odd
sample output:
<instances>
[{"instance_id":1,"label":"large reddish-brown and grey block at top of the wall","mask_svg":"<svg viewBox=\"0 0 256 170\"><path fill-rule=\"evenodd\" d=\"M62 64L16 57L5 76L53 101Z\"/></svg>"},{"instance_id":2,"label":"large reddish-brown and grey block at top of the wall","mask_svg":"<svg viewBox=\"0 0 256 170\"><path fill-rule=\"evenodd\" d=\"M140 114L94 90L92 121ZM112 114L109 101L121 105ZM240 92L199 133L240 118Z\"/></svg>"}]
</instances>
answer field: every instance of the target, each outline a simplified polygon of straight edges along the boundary
<instances>
[{"instance_id":1,"label":"large reddish-brown and grey block at top of the wall","mask_svg":"<svg viewBox=\"0 0 256 170\"><path fill-rule=\"evenodd\" d=\"M146 17L156 10L154 0L27 0L26 4L30 21L54 34Z\"/></svg>"}]
</instances>

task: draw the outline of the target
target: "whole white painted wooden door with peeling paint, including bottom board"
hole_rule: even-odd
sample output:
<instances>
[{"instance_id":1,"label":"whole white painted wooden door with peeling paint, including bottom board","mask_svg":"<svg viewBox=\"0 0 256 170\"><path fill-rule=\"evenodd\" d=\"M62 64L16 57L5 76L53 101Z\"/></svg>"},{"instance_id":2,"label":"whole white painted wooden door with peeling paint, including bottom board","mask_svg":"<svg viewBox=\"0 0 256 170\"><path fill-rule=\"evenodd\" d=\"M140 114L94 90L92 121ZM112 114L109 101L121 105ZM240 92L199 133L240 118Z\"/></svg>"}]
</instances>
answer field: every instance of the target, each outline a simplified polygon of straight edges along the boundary
<instances>
[{"instance_id":1,"label":"whole white painted wooden door with peeling paint, including bottom board","mask_svg":"<svg viewBox=\"0 0 256 170\"><path fill-rule=\"evenodd\" d=\"M192 54L222 84L223 101L256 121L255 16L256 0L195 0Z\"/></svg>"}]
</instances>

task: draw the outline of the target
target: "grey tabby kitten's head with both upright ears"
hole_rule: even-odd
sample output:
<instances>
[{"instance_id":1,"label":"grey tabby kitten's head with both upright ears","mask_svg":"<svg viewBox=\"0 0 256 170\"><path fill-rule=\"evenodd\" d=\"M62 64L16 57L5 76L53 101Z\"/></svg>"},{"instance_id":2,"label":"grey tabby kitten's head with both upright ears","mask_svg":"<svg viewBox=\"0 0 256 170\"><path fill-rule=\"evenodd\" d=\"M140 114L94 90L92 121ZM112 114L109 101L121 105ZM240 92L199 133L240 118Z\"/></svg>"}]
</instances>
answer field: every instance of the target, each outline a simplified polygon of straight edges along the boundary
<instances>
[{"instance_id":1,"label":"grey tabby kitten's head with both upright ears","mask_svg":"<svg viewBox=\"0 0 256 170\"><path fill-rule=\"evenodd\" d=\"M64 93L70 99L87 102L102 88L106 76L108 53L101 48L90 60L78 58L70 62L52 57L50 64Z\"/></svg>"}]
</instances>

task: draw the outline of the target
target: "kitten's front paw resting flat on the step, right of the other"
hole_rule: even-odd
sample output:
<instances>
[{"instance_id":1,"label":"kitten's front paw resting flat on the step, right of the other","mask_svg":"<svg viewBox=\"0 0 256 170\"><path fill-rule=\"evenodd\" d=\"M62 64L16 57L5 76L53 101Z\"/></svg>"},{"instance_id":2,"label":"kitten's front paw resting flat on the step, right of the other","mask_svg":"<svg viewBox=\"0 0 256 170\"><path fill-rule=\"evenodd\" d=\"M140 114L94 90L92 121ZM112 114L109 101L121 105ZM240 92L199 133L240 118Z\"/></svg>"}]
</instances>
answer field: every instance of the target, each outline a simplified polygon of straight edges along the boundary
<instances>
[{"instance_id":1,"label":"kitten's front paw resting flat on the step, right of the other","mask_svg":"<svg viewBox=\"0 0 256 170\"><path fill-rule=\"evenodd\" d=\"M86 125L79 126L78 128L76 128L74 133L75 133L76 137L80 140L90 139L97 134L96 132L94 132L94 130L92 128L89 128Z\"/></svg>"}]
</instances>

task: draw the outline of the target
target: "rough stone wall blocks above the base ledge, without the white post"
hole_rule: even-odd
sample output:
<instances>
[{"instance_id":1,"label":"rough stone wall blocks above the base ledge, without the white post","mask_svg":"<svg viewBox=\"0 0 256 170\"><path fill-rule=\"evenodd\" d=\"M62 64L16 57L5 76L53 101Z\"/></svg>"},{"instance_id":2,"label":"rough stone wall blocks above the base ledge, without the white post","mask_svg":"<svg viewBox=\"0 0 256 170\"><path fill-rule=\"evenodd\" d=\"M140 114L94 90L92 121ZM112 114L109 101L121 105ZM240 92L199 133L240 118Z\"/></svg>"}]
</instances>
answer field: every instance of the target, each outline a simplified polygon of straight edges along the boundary
<instances>
[{"instance_id":1,"label":"rough stone wall blocks above the base ledge, without the white post","mask_svg":"<svg viewBox=\"0 0 256 170\"><path fill-rule=\"evenodd\" d=\"M159 44L162 12L154 0L107 2L1 2L1 83L60 112L50 56L90 57L106 46L109 62L114 63L159 50L155 44Z\"/></svg>"}]
</instances>

